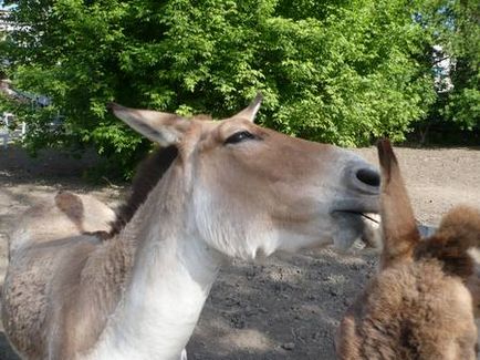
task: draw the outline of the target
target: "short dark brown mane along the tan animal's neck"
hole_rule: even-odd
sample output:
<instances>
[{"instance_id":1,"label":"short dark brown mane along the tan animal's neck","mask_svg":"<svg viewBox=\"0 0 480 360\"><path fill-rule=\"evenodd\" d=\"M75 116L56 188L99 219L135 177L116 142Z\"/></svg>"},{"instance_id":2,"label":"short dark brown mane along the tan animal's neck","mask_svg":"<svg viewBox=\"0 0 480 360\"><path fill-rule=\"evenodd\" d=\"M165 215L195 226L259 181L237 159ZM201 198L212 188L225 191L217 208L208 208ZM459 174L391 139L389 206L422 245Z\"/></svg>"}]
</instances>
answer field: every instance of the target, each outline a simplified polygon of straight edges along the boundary
<instances>
[{"instance_id":1,"label":"short dark brown mane along the tan animal's neck","mask_svg":"<svg viewBox=\"0 0 480 360\"><path fill-rule=\"evenodd\" d=\"M118 234L125 227L125 224L133 218L138 207L146 200L148 194L170 167L177 154L178 150L175 146L163 147L154 151L139 163L132 182L131 195L127 202L116 212L116 219L112 223L112 230L107 237Z\"/></svg>"}]
</instances>

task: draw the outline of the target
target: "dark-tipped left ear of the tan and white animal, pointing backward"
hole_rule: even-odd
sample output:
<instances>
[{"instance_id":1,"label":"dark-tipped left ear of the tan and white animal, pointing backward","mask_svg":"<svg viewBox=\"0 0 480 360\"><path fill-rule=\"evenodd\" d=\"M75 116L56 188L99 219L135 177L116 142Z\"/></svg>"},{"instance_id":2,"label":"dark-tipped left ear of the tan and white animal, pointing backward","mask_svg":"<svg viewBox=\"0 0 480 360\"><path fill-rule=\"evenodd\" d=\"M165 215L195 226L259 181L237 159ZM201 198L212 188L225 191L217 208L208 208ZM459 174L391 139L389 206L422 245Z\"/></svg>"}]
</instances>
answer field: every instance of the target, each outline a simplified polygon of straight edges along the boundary
<instances>
[{"instance_id":1,"label":"dark-tipped left ear of the tan and white animal, pointing backward","mask_svg":"<svg viewBox=\"0 0 480 360\"><path fill-rule=\"evenodd\" d=\"M178 144L191 124L176 114L129 109L115 103L111 103L108 107L133 130L161 146Z\"/></svg>"}]
</instances>

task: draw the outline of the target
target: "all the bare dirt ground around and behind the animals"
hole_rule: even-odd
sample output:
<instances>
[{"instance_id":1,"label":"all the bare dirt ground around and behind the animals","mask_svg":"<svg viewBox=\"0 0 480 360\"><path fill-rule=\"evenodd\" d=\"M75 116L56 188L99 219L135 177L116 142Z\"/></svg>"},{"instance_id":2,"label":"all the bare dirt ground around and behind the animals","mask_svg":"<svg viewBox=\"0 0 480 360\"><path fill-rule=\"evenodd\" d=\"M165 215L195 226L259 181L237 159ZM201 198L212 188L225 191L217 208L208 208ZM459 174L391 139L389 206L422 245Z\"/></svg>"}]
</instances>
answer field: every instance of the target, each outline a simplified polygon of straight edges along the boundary
<instances>
[{"instance_id":1,"label":"all the bare dirt ground around and behind the animals","mask_svg":"<svg viewBox=\"0 0 480 360\"><path fill-rule=\"evenodd\" d=\"M374 148L356 150L373 163ZM436 224L452 205L480 207L480 148L397 148L417 217ZM46 153L31 160L0 150L0 279L7 234L31 204L59 189L91 193L112 206L127 186L82 182L91 162ZM346 307L375 271L377 254L319 249L226 267L187 347L189 359L334 359L333 335ZM0 281L1 282L1 281ZM0 327L0 359L18 359Z\"/></svg>"}]
</instances>

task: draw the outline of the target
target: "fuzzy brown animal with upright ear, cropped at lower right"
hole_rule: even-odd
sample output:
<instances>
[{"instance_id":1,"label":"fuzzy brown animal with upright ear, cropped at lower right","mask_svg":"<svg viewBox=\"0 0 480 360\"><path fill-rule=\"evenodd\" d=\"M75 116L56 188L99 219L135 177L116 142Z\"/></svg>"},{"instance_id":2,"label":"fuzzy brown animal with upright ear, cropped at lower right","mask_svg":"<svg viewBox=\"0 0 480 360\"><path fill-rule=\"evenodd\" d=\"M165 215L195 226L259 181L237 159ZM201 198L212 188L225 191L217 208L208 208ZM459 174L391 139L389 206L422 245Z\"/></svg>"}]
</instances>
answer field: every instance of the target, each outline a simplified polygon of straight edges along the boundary
<instances>
[{"instance_id":1,"label":"fuzzy brown animal with upright ear, cropped at lower right","mask_svg":"<svg viewBox=\"0 0 480 360\"><path fill-rule=\"evenodd\" d=\"M478 299L470 282L480 286L468 251L480 245L480 213L459 206L444 217L434 236L420 240L388 141L379 143L378 154L380 271L342 320L337 358L473 360L472 296Z\"/></svg>"}]
</instances>

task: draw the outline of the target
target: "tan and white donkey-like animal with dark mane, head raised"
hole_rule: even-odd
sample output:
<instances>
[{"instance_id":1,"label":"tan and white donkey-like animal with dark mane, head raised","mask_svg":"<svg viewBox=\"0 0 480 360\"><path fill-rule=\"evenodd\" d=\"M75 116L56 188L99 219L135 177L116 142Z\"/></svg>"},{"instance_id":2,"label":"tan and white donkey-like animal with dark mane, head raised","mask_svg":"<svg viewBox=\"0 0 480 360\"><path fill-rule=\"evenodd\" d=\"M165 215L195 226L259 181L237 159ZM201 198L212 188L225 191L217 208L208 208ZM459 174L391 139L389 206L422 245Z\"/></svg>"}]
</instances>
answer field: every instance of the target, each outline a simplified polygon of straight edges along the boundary
<instances>
[{"instance_id":1,"label":"tan and white donkey-like animal with dark mane, head raised","mask_svg":"<svg viewBox=\"0 0 480 360\"><path fill-rule=\"evenodd\" d=\"M229 259L345 247L363 234L362 213L378 207L376 171L347 151L254 125L259 106L223 121L112 106L175 150L144 166L146 191L134 191L113 229L88 227L104 217L74 194L20 220L2 319L23 358L179 359Z\"/></svg>"}]
</instances>

